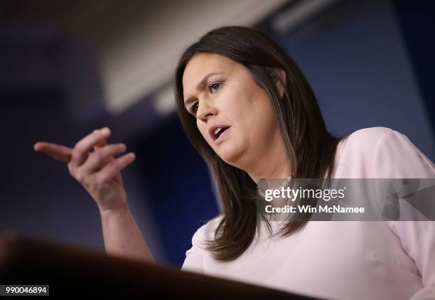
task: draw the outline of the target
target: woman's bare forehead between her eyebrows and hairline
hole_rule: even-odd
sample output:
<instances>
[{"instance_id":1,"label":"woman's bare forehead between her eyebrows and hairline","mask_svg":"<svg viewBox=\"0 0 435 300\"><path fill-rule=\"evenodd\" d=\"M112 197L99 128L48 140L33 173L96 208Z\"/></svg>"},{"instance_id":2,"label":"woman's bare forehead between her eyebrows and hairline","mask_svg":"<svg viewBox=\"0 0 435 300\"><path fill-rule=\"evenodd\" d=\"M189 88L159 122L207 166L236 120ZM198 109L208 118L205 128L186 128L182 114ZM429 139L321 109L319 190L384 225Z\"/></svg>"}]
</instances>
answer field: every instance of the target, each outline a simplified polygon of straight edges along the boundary
<instances>
[{"instance_id":1,"label":"woman's bare forehead between her eyebrows and hairline","mask_svg":"<svg viewBox=\"0 0 435 300\"><path fill-rule=\"evenodd\" d=\"M183 73L183 90L193 92L196 84L209 73L231 73L237 63L225 55L216 53L198 53L186 65Z\"/></svg>"}]
</instances>

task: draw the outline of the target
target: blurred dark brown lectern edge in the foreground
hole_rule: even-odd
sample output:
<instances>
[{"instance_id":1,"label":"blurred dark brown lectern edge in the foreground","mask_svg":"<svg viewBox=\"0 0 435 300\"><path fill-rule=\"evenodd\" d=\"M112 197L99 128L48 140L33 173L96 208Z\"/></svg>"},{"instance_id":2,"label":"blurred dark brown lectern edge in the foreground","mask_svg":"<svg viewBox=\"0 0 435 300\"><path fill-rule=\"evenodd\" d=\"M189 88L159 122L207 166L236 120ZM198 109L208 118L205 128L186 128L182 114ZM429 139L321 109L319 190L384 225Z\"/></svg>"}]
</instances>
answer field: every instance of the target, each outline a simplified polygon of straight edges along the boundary
<instances>
[{"instance_id":1,"label":"blurred dark brown lectern edge in the foreground","mask_svg":"<svg viewBox=\"0 0 435 300\"><path fill-rule=\"evenodd\" d=\"M267 276L267 274L264 274ZM50 296L171 296L186 299L313 299L181 271L163 264L0 232L0 284L50 285Z\"/></svg>"}]
</instances>

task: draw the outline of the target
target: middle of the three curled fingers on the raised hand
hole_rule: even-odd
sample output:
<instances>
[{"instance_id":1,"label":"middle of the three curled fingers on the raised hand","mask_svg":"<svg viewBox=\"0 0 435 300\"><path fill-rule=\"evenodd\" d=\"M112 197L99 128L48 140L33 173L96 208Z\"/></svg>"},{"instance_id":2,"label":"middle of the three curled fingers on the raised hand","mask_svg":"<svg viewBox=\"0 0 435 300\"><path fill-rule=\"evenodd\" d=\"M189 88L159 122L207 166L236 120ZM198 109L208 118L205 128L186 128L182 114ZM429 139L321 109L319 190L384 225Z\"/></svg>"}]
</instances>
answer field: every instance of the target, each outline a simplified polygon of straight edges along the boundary
<instances>
[{"instance_id":1,"label":"middle of the three curled fingers on the raised hand","mask_svg":"<svg viewBox=\"0 0 435 300\"><path fill-rule=\"evenodd\" d=\"M115 154L123 153L127 147L125 144L110 144L95 150L90 154L90 157L85 161L85 164L80 166L80 170L84 174L94 173L95 171L103 168L109 162L108 159L114 159Z\"/></svg>"}]
</instances>

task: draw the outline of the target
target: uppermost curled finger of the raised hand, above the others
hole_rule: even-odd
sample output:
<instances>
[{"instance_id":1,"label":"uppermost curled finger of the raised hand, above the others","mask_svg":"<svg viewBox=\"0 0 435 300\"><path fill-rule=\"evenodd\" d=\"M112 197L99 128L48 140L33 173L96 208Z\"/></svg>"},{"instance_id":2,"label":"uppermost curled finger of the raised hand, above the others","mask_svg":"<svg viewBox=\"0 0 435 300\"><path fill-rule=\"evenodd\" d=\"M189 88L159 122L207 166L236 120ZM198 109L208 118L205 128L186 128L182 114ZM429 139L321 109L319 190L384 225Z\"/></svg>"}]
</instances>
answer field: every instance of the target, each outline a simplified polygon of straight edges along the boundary
<instances>
[{"instance_id":1,"label":"uppermost curled finger of the raised hand, above the others","mask_svg":"<svg viewBox=\"0 0 435 300\"><path fill-rule=\"evenodd\" d=\"M71 164L75 167L81 166L87 159L87 156L92 148L95 145L101 144L109 135L110 129L104 127L101 130L96 129L91 134L88 134L83 139L80 139L80 141L78 141L74 146Z\"/></svg>"}]
</instances>

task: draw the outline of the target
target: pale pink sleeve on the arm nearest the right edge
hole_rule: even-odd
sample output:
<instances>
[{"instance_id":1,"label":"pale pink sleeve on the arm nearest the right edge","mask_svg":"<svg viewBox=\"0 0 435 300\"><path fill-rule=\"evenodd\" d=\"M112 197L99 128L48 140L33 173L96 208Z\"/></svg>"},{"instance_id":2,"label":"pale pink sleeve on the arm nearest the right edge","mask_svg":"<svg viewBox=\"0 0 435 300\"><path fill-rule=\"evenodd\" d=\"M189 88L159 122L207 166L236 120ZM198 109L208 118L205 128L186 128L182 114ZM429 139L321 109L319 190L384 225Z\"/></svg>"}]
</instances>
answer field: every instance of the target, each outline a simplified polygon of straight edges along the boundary
<instances>
[{"instance_id":1,"label":"pale pink sleeve on the arm nearest the right edge","mask_svg":"<svg viewBox=\"0 0 435 300\"><path fill-rule=\"evenodd\" d=\"M435 178L435 166L404 134L391 130L375 149L376 178ZM435 195L434 195L435 200ZM387 221L424 286L410 300L435 299L435 221Z\"/></svg>"}]
</instances>

